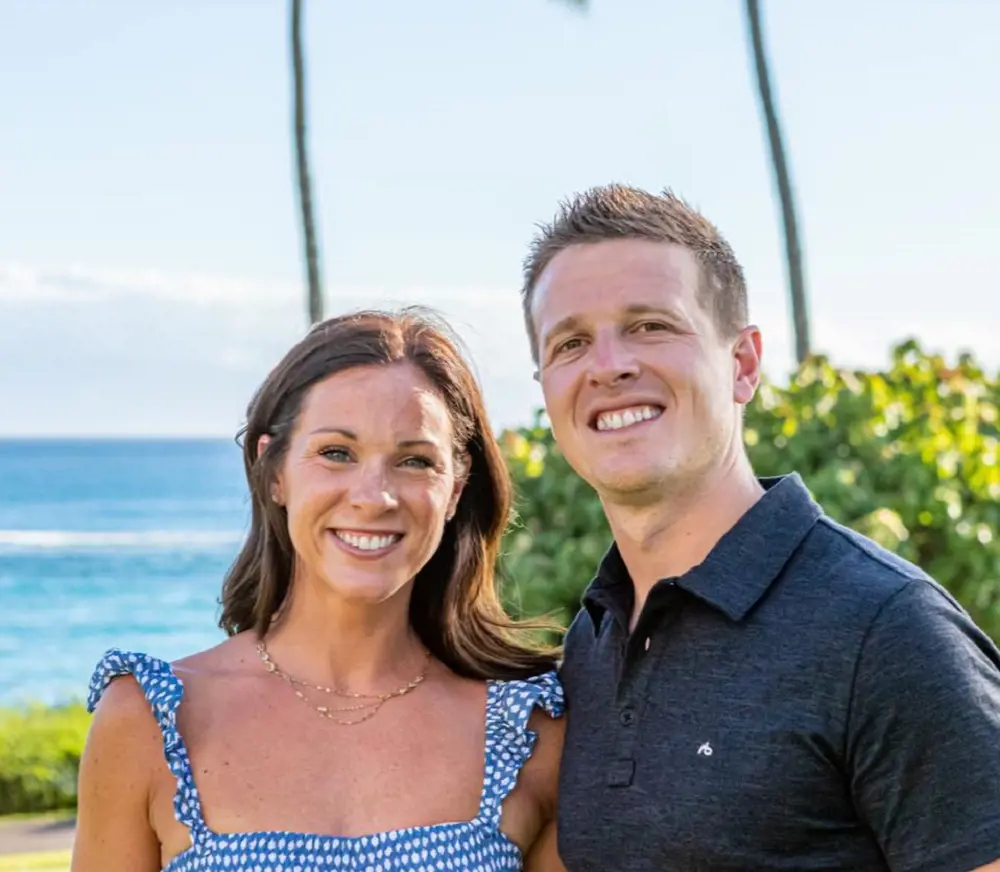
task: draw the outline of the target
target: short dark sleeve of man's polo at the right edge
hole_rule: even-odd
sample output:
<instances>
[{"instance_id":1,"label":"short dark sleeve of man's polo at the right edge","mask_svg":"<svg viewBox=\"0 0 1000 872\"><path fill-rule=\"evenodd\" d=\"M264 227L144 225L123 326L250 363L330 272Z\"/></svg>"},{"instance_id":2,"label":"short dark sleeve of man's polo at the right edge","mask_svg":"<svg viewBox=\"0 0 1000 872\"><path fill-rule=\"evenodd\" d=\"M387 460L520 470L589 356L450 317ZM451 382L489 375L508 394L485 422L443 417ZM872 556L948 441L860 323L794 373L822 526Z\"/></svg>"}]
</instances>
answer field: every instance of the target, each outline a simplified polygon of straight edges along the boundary
<instances>
[{"instance_id":1,"label":"short dark sleeve of man's polo at the right edge","mask_svg":"<svg viewBox=\"0 0 1000 872\"><path fill-rule=\"evenodd\" d=\"M932 582L869 628L847 733L855 804L893 872L1000 859L1000 652Z\"/></svg>"}]
</instances>

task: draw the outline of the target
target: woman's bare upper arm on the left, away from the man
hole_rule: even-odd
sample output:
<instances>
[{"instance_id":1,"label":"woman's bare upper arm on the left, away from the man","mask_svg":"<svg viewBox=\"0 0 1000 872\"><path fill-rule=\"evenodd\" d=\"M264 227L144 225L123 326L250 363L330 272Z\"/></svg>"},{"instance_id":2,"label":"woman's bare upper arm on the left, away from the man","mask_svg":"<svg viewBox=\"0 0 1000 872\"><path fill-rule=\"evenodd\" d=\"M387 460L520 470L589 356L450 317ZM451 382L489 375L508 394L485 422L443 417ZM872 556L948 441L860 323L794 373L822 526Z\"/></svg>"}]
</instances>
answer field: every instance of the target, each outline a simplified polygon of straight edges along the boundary
<instances>
[{"instance_id":1,"label":"woman's bare upper arm on the left, away from the man","mask_svg":"<svg viewBox=\"0 0 1000 872\"><path fill-rule=\"evenodd\" d=\"M94 713L80 761L70 872L159 872L149 799L162 756L163 739L139 685L115 679Z\"/></svg>"}]
</instances>

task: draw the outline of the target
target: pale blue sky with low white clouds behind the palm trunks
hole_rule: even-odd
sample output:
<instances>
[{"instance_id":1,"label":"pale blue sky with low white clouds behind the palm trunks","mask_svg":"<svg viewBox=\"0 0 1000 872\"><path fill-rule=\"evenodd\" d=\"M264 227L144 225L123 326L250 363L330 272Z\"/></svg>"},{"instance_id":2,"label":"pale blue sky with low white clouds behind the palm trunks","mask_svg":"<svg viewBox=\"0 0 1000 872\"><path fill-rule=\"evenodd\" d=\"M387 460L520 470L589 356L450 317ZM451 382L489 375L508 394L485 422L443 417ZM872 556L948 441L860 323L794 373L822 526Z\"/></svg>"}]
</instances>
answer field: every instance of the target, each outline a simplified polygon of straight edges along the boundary
<instances>
[{"instance_id":1,"label":"pale blue sky with low white clouds behind the palm trunks","mask_svg":"<svg viewBox=\"0 0 1000 872\"><path fill-rule=\"evenodd\" d=\"M792 368L738 0L307 0L328 313L450 318L527 423L535 226L670 187L729 239ZM814 346L1000 366L1000 4L765 0ZM279 0L0 0L0 435L231 436L306 330Z\"/></svg>"}]
</instances>

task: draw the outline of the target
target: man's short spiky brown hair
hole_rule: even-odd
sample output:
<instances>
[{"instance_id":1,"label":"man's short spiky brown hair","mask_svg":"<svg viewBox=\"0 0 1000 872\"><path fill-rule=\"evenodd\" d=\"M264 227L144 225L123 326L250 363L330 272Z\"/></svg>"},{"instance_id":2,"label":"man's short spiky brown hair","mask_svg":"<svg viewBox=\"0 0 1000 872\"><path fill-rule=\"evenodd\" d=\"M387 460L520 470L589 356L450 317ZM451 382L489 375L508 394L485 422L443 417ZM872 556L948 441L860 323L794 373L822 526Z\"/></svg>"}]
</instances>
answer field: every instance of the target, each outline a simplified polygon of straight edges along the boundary
<instances>
[{"instance_id":1,"label":"man's short spiky brown hair","mask_svg":"<svg viewBox=\"0 0 1000 872\"><path fill-rule=\"evenodd\" d=\"M669 189L650 194L628 185L590 188L560 204L549 224L539 225L524 260L521 302L531 355L538 363L538 338L531 302L539 276L571 245L612 239L646 239L689 249L701 268L699 300L724 336L735 336L748 319L743 268L729 243L704 215Z\"/></svg>"}]
</instances>

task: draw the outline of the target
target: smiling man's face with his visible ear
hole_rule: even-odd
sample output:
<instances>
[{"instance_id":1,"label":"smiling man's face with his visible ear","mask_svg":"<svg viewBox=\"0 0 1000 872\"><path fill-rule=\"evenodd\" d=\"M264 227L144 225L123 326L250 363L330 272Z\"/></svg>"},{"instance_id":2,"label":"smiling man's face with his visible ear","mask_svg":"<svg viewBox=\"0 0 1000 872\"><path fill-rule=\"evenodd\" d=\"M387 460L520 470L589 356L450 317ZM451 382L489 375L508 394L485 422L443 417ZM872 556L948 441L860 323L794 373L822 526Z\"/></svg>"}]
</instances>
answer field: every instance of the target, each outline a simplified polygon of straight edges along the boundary
<instances>
[{"instance_id":1,"label":"smiling man's face with his visible ear","mask_svg":"<svg viewBox=\"0 0 1000 872\"><path fill-rule=\"evenodd\" d=\"M535 286L539 377L553 434L605 499L661 500L724 460L759 373L760 336L725 340L699 301L686 248L575 245Z\"/></svg>"}]
</instances>

